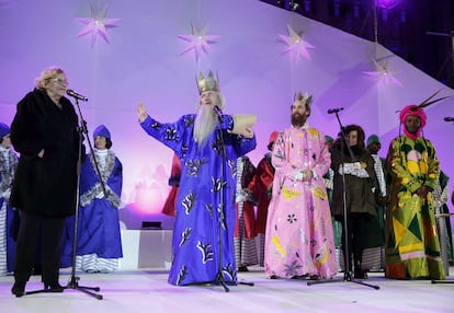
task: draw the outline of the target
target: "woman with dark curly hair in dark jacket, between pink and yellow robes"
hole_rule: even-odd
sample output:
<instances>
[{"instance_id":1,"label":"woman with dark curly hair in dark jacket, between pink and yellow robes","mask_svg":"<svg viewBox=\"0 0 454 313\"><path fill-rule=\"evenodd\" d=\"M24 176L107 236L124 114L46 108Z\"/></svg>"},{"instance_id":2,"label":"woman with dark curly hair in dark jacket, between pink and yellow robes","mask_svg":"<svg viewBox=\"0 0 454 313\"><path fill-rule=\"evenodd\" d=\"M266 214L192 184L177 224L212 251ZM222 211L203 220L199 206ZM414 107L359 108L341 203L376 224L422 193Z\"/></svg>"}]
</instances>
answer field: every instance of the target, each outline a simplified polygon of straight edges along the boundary
<instances>
[{"instance_id":1,"label":"woman with dark curly hair in dark jacket, between pink and yellow robes","mask_svg":"<svg viewBox=\"0 0 454 313\"><path fill-rule=\"evenodd\" d=\"M349 273L354 268L354 278L367 278L362 268L362 254L367 235L367 219L376 219L375 198L372 183L375 181L374 159L364 147L364 130L359 125L344 128L345 143L342 136L331 149L331 169L334 172L331 212L342 222L342 250L344 264ZM351 151L351 153L350 153ZM348 243L344 235L343 178L345 179L345 209L348 221ZM345 247L349 247L345 253ZM352 264L353 257L353 264Z\"/></svg>"}]
</instances>

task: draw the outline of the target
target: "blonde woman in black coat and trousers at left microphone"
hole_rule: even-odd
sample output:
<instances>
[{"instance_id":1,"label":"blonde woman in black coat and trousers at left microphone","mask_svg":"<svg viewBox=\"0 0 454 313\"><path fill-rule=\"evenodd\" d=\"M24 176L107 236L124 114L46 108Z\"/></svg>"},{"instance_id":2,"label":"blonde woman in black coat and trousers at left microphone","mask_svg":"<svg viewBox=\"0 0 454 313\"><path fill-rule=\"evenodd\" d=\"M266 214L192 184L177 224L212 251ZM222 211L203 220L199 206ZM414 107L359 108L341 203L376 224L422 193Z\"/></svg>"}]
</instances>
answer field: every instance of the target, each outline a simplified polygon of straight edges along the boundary
<instances>
[{"instance_id":1,"label":"blonde woman in black coat and trousers at left microphone","mask_svg":"<svg viewBox=\"0 0 454 313\"><path fill-rule=\"evenodd\" d=\"M76 209L80 138L78 116L64 96L67 86L60 68L45 69L35 90L18 103L11 125L11 142L21 154L10 197L21 212L11 289L16 297L25 294L37 248L44 288L64 290L58 282L60 242L65 219Z\"/></svg>"}]
</instances>

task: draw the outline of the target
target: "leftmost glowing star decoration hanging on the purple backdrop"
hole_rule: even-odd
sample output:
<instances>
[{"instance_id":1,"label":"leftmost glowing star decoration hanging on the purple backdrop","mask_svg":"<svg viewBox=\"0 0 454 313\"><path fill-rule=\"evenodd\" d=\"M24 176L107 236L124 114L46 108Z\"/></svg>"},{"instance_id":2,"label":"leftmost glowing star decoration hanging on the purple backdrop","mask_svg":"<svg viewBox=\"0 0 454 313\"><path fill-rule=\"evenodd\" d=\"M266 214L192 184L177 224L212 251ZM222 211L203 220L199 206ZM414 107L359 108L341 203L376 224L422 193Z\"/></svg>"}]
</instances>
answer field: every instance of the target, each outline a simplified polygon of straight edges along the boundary
<instances>
[{"instance_id":1,"label":"leftmost glowing star decoration hanging on the purple backdrop","mask_svg":"<svg viewBox=\"0 0 454 313\"><path fill-rule=\"evenodd\" d=\"M82 31L80 31L76 36L80 37L91 34L91 47L93 47L98 36L101 36L106 43L109 43L107 30L117 27L115 25L115 22L122 19L105 19L107 9L109 5L104 7L103 9L98 9L92 5L91 18L76 18L76 20L82 24L86 24Z\"/></svg>"}]
</instances>

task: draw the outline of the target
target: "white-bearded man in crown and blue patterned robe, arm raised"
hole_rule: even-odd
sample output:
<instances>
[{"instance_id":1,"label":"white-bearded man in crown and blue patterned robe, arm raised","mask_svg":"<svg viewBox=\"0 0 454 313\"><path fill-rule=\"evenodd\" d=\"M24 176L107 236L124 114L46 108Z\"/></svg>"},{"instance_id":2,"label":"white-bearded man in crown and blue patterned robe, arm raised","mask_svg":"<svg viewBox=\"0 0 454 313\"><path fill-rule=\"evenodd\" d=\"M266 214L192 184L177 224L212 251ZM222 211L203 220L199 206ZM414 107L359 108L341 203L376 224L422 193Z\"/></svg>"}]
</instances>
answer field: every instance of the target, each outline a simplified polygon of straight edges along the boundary
<instances>
[{"instance_id":1,"label":"white-bearded man in crown and blue patterned robe, arm raised","mask_svg":"<svg viewBox=\"0 0 454 313\"><path fill-rule=\"evenodd\" d=\"M159 123L138 104L141 128L181 160L169 283L237 280L234 231L237 158L257 146L250 116L222 114L224 97L209 72L197 79L197 114Z\"/></svg>"}]
</instances>

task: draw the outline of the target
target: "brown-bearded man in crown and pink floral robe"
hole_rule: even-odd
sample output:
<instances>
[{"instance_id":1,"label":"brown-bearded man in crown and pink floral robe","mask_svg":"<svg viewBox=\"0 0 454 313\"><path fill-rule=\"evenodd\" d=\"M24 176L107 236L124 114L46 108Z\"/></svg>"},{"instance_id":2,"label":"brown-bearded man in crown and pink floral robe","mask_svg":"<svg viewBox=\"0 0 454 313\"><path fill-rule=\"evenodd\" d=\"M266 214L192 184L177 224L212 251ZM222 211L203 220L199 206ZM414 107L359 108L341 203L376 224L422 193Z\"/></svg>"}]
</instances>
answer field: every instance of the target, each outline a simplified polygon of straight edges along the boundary
<instances>
[{"instance_id":1,"label":"brown-bearded man in crown and pink floral robe","mask_svg":"<svg viewBox=\"0 0 454 313\"><path fill-rule=\"evenodd\" d=\"M292 105L292 126L281 131L265 235L268 278L331 278L337 274L331 211L324 175L331 164L325 135L307 125L311 96Z\"/></svg>"}]
</instances>

